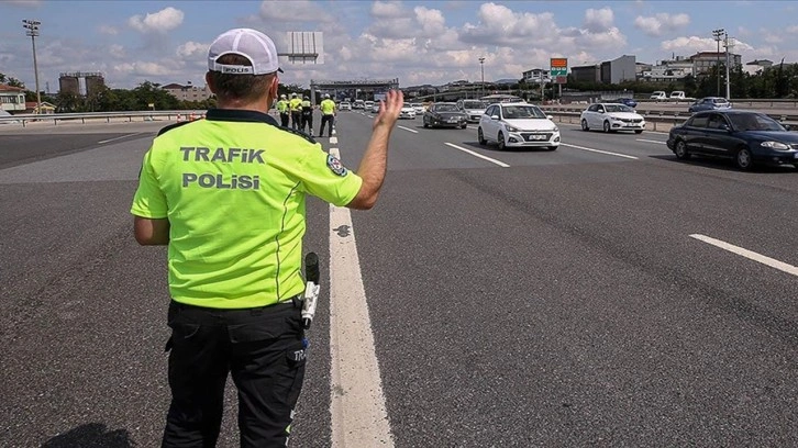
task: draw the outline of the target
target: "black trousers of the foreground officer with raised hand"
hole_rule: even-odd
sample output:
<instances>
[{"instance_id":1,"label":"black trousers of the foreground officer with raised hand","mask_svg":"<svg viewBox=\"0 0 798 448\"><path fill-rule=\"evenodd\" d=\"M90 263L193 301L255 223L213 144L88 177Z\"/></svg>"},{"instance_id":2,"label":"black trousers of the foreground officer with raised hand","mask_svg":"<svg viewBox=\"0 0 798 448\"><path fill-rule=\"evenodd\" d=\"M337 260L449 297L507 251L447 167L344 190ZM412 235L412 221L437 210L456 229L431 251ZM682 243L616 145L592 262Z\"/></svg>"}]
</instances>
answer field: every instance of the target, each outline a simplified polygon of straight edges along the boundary
<instances>
[{"instance_id":1,"label":"black trousers of the foreground officer with raised hand","mask_svg":"<svg viewBox=\"0 0 798 448\"><path fill-rule=\"evenodd\" d=\"M285 447L304 378L301 302L251 310L169 304L171 404L162 447L214 447L230 372L242 447Z\"/></svg>"}]
</instances>

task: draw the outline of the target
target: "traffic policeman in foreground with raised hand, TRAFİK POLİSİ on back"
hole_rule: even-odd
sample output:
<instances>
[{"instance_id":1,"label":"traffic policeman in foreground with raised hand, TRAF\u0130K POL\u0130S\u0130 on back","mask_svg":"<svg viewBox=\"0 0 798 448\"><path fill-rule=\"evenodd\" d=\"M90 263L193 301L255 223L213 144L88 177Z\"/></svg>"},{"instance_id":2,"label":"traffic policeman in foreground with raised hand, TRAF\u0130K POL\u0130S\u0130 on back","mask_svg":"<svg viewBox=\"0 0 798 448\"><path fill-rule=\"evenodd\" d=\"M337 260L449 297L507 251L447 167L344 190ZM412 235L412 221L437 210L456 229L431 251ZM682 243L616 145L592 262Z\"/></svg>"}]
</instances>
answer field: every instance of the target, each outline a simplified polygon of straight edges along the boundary
<instances>
[{"instance_id":1,"label":"traffic policeman in foreground with raised hand, TRAF\u0130K POL\u0130S\u0130 on back","mask_svg":"<svg viewBox=\"0 0 798 448\"><path fill-rule=\"evenodd\" d=\"M144 156L134 235L168 245L171 403L163 447L215 446L228 374L239 390L241 446L286 446L306 365L306 197L367 210L386 176L401 92L387 94L355 173L268 115L277 55L255 30L218 36L206 80L219 109L163 128Z\"/></svg>"}]
</instances>

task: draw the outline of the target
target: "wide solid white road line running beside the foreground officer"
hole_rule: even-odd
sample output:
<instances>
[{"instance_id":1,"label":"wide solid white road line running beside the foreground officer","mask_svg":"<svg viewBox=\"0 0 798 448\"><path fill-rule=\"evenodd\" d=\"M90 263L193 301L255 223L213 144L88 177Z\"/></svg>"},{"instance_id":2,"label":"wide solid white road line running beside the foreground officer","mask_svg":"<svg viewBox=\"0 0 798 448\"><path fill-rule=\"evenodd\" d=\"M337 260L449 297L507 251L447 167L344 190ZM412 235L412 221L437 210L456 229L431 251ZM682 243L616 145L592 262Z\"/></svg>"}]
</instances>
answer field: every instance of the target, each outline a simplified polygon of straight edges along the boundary
<instances>
[{"instance_id":1,"label":"wide solid white road line running beside the foreground officer","mask_svg":"<svg viewBox=\"0 0 798 448\"><path fill-rule=\"evenodd\" d=\"M330 154L340 158L337 148ZM392 447L352 216L330 205L332 446Z\"/></svg>"}]
</instances>

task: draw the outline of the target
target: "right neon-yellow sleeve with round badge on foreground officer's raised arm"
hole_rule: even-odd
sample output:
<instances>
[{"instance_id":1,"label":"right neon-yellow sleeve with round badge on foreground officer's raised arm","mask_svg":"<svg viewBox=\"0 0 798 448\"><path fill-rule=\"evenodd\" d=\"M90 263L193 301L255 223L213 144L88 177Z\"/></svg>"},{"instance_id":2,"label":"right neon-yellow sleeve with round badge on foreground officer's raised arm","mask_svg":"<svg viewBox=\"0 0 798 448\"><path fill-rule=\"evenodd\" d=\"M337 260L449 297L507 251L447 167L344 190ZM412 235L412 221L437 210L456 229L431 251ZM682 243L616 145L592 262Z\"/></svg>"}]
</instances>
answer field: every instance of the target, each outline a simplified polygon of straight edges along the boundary
<instances>
[{"instance_id":1,"label":"right neon-yellow sleeve with round badge on foreground officer's raised arm","mask_svg":"<svg viewBox=\"0 0 798 448\"><path fill-rule=\"evenodd\" d=\"M352 202L363 184L363 179L341 160L318 148L304 157L301 180L307 192L336 206Z\"/></svg>"}]
</instances>

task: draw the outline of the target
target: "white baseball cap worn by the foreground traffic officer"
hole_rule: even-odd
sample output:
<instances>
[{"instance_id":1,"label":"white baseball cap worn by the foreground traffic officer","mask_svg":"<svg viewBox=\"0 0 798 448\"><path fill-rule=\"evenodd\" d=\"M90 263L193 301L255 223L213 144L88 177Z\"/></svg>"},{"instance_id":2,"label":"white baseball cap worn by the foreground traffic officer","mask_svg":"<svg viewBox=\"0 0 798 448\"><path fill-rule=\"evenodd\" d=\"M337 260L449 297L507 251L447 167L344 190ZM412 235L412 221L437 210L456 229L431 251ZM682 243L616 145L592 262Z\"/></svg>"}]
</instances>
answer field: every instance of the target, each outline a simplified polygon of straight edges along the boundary
<instances>
[{"instance_id":1,"label":"white baseball cap worn by the foreground traffic officer","mask_svg":"<svg viewBox=\"0 0 798 448\"><path fill-rule=\"evenodd\" d=\"M252 67L217 63L221 56L231 54L250 59ZM220 34L208 49L208 69L225 75L282 72L275 43L266 34L252 29L234 29Z\"/></svg>"}]
</instances>

